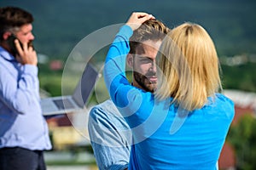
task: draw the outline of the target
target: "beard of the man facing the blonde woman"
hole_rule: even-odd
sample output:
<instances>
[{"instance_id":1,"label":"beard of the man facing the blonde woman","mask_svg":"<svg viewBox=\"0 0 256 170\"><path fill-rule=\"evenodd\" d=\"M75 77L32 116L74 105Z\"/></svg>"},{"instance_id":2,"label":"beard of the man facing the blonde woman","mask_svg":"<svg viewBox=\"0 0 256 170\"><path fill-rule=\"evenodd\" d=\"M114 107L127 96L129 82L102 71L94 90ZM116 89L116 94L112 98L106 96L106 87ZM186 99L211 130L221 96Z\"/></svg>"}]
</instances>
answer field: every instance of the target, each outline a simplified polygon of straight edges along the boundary
<instances>
[{"instance_id":1,"label":"beard of the man facing the blonde woman","mask_svg":"<svg viewBox=\"0 0 256 170\"><path fill-rule=\"evenodd\" d=\"M143 88L143 90L153 93L154 90L156 89L157 84L156 82L150 82L147 78L147 75L149 77L149 76L155 75L155 73L148 72L146 76L144 76L137 71L133 72L133 77L138 83L138 85L140 85Z\"/></svg>"}]
</instances>

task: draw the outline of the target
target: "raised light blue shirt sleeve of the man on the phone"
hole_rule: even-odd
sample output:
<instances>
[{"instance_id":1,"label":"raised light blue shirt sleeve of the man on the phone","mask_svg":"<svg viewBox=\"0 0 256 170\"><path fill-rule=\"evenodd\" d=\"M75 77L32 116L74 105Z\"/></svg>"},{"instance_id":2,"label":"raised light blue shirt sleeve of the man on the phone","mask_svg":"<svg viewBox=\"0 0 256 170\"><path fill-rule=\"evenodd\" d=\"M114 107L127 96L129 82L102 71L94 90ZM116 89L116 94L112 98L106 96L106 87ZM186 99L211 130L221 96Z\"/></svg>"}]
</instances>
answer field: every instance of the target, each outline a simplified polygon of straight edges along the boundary
<instances>
[{"instance_id":1,"label":"raised light blue shirt sleeve of the man on the phone","mask_svg":"<svg viewBox=\"0 0 256 170\"><path fill-rule=\"evenodd\" d=\"M7 65L0 65L0 100L10 110L26 114L39 100L38 67L16 65L15 70Z\"/></svg>"}]
</instances>

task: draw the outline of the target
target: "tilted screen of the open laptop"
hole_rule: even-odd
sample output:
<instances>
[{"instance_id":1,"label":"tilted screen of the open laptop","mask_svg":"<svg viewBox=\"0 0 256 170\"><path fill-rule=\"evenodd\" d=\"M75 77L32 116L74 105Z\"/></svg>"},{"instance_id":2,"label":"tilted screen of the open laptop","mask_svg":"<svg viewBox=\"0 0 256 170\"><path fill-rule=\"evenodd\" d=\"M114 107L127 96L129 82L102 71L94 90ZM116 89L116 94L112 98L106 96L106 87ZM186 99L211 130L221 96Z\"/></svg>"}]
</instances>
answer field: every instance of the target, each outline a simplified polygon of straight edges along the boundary
<instances>
[{"instance_id":1,"label":"tilted screen of the open laptop","mask_svg":"<svg viewBox=\"0 0 256 170\"><path fill-rule=\"evenodd\" d=\"M79 107L84 107L84 105L88 102L98 77L99 73L96 71L96 68L88 63L72 95L73 100L77 103L77 105L79 105Z\"/></svg>"}]
</instances>

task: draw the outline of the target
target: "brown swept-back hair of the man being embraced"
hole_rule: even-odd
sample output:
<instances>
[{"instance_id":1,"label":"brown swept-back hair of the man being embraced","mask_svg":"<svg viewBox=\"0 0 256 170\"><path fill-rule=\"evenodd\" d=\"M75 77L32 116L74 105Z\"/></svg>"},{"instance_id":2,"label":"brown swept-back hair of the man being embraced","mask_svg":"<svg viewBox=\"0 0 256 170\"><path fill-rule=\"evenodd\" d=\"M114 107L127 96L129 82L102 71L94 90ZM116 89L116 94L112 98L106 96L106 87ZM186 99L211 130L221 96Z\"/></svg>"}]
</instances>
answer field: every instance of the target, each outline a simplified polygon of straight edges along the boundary
<instances>
[{"instance_id":1,"label":"brown swept-back hair of the man being embraced","mask_svg":"<svg viewBox=\"0 0 256 170\"><path fill-rule=\"evenodd\" d=\"M160 20L146 20L130 37L130 54L135 54L137 46L142 42L163 40L169 31L170 29Z\"/></svg>"}]
</instances>

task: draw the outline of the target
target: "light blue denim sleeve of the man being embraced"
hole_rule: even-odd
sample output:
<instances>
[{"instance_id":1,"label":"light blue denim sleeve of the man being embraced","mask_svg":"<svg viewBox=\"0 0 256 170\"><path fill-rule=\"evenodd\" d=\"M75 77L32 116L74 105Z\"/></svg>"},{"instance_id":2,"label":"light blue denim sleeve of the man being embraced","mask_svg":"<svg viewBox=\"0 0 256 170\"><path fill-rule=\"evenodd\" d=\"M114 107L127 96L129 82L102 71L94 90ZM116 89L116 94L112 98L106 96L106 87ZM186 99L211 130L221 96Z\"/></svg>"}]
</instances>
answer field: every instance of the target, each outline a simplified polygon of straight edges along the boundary
<instances>
[{"instance_id":1,"label":"light blue denim sleeve of the man being embraced","mask_svg":"<svg viewBox=\"0 0 256 170\"><path fill-rule=\"evenodd\" d=\"M111 107L111 113L108 112ZM130 158L131 133L118 111L95 106L90 111L88 129L90 143L99 169L123 170L128 167ZM129 131L130 132L130 131Z\"/></svg>"}]
</instances>

